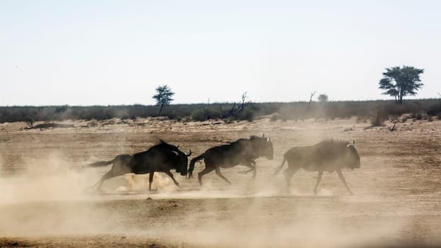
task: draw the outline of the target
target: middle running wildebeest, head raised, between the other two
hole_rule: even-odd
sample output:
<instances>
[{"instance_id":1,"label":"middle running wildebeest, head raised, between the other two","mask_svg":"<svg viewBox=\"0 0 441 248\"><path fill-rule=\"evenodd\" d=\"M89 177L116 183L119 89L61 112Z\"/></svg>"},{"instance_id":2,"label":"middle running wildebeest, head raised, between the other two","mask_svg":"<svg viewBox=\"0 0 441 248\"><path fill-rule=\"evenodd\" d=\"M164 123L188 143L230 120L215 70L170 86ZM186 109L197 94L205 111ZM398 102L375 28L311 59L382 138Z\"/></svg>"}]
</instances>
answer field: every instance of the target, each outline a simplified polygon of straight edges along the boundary
<instances>
[{"instance_id":1,"label":"middle running wildebeest, head raised, between the other two","mask_svg":"<svg viewBox=\"0 0 441 248\"><path fill-rule=\"evenodd\" d=\"M199 185L202 185L202 176L215 170L216 174L231 184L228 179L220 173L220 168L234 167L238 164L249 167L250 170L244 173L253 171L253 178L256 176L256 162L258 157L266 157L267 159L273 159L273 147L269 137L251 136L250 139L239 139L230 144L219 145L211 147L203 152L203 154L191 159L189 166L189 178L193 176L194 164L200 159L204 159L205 169L199 172L198 179Z\"/></svg>"}]
</instances>

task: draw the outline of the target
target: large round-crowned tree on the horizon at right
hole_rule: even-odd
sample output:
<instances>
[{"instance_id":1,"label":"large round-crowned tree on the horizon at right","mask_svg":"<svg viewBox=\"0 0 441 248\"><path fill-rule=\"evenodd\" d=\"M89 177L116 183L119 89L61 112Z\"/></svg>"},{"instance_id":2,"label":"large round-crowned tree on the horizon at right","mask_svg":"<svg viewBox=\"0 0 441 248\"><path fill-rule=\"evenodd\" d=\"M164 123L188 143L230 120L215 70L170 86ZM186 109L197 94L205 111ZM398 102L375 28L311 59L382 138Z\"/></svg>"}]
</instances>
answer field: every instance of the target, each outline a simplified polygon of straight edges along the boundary
<instances>
[{"instance_id":1,"label":"large round-crowned tree on the horizon at right","mask_svg":"<svg viewBox=\"0 0 441 248\"><path fill-rule=\"evenodd\" d=\"M393 96L395 102L401 104L403 96L415 96L416 91L424 85L420 83L420 74L423 72L424 69L408 66L386 68L379 89L384 89L384 95Z\"/></svg>"}]
</instances>

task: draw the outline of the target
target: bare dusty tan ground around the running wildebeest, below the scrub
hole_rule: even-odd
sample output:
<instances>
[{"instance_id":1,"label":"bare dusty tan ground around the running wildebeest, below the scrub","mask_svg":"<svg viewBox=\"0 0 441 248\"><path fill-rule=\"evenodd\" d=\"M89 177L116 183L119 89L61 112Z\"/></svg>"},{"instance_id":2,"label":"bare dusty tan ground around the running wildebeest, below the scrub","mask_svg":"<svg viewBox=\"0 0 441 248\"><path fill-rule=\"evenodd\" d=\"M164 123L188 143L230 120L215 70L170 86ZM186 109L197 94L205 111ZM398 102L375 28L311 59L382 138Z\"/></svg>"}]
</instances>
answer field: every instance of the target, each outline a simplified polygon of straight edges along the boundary
<instances>
[{"instance_id":1,"label":"bare dusty tan ground around the running wildebeest, below the scrub","mask_svg":"<svg viewBox=\"0 0 441 248\"><path fill-rule=\"evenodd\" d=\"M441 247L441 121L408 120L397 131L349 120L176 123L140 119L66 122L75 128L23 130L0 125L0 247ZM386 123L391 126L390 123ZM146 150L158 139L191 149L249 135L271 137L274 160L257 159L257 178L223 169L228 186L211 173L175 174L175 187L157 174L87 188L110 167L85 167L116 154ZM362 159L325 173L299 171L291 194L272 172L290 147L326 139L352 141ZM193 156L191 156L193 157ZM203 169L196 163L195 174Z\"/></svg>"}]
</instances>

